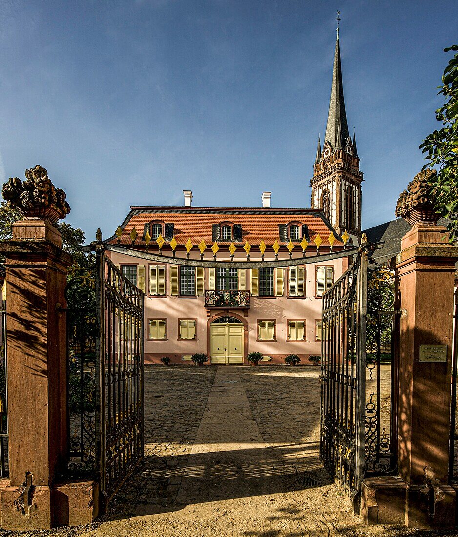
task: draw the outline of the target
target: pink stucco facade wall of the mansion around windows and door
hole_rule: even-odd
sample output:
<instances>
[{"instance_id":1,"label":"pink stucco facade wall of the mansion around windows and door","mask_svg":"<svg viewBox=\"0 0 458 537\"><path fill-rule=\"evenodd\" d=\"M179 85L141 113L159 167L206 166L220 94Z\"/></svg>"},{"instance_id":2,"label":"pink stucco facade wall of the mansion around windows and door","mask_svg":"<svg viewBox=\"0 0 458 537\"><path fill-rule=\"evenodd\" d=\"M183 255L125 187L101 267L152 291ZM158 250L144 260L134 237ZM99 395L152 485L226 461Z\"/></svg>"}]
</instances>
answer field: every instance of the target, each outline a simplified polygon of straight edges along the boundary
<instances>
[{"instance_id":1,"label":"pink stucco facade wall of the mansion around windows and door","mask_svg":"<svg viewBox=\"0 0 458 537\"><path fill-rule=\"evenodd\" d=\"M243 258L241 256L241 258ZM209 355L209 322L221 316L223 309L210 310L210 317L204 306L203 296L177 297L170 296L170 265L166 270L166 296L148 297L148 262L130 256L113 252L113 263L140 264L146 266L146 294L144 301L144 358L146 363L160 363L161 357L168 356L172 363L192 364L183 361L183 355L197 352ZM220 259L219 259L220 260ZM253 259L252 259L253 260ZM319 263L318 263L319 264ZM323 263L335 267L335 280L337 280L348 265L347 258L337 259L333 262ZM283 296L260 298L250 296L250 309L248 316L244 317L242 310L229 310L229 315L236 315L244 322L248 329L248 345L244 349L244 363L248 352L261 352L272 357L272 361L263 362L263 365L284 363L288 354L298 354L302 363L310 363L309 355L321 354L321 343L315 342L315 320L321 319L321 299L315 298L315 264L306 268L306 296L301 298L288 298L287 270L285 270ZM246 289L250 289L250 270L246 270ZM205 269L205 289L208 289L209 269ZM227 311L227 310L224 310ZM167 339L161 341L148 340L148 318L165 318L167 321ZM182 341L178 339L179 319L197 319L197 340ZM276 321L276 340L272 342L257 341L258 319L274 319ZM306 321L306 341L292 342L287 340L287 321Z\"/></svg>"}]
</instances>

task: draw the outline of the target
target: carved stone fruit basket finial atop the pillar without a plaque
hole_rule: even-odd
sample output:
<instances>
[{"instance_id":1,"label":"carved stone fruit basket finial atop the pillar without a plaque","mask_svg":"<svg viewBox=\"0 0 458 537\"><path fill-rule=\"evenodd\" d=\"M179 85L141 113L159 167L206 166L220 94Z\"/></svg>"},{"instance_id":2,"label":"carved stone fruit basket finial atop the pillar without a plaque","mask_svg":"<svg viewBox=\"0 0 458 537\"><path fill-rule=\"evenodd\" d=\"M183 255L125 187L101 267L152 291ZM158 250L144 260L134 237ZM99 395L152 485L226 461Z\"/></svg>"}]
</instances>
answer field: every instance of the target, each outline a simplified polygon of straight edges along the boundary
<instances>
[{"instance_id":1,"label":"carved stone fruit basket finial atop the pillar without a plaque","mask_svg":"<svg viewBox=\"0 0 458 537\"><path fill-rule=\"evenodd\" d=\"M55 224L70 212L67 194L55 188L48 172L37 164L25 170L26 180L10 177L3 184L2 196L10 209L17 209L24 220L48 220Z\"/></svg>"}]
</instances>

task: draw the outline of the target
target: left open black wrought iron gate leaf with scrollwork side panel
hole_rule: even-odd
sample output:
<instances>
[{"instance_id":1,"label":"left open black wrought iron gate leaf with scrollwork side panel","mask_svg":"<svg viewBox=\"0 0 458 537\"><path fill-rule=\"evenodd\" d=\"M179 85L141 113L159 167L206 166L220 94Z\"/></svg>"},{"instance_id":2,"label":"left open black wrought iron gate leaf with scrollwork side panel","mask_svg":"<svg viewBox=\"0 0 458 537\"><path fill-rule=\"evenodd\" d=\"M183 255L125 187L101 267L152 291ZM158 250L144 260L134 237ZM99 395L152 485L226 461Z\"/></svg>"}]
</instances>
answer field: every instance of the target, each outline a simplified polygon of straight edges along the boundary
<instances>
[{"instance_id":1,"label":"left open black wrought iron gate leaf with scrollwork side panel","mask_svg":"<svg viewBox=\"0 0 458 537\"><path fill-rule=\"evenodd\" d=\"M105 509L143 458L144 296L101 244L69 278L67 471L99 478Z\"/></svg>"}]
</instances>

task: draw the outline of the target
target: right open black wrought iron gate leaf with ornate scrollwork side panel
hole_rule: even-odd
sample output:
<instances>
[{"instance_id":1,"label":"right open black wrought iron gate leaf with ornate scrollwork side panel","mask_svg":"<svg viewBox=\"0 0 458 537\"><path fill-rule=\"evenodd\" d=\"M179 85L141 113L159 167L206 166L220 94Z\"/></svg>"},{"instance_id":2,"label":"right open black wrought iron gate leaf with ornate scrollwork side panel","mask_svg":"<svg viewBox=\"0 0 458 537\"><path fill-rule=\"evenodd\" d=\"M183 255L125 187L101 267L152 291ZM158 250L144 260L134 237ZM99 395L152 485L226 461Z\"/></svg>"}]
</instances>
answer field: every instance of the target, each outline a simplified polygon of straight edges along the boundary
<instances>
[{"instance_id":1,"label":"right open black wrought iron gate leaf with ornate scrollwork side panel","mask_svg":"<svg viewBox=\"0 0 458 537\"><path fill-rule=\"evenodd\" d=\"M394 473L397 465L399 311L394 273L374 264L373 250L364 244L322 298L320 457L355 513L364 477ZM389 364L382 367L384 354Z\"/></svg>"}]
</instances>

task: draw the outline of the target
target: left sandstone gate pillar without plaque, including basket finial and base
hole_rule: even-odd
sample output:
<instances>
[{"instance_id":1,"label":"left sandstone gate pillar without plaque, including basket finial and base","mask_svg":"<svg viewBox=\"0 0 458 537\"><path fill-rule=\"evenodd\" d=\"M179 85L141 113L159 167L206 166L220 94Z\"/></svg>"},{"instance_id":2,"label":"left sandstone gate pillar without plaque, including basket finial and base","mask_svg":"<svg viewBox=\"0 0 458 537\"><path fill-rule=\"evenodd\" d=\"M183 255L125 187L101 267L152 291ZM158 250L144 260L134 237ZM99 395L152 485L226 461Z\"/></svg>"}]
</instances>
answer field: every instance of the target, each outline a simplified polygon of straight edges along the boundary
<instances>
[{"instance_id":1,"label":"left sandstone gate pillar without plaque, including basket finial and base","mask_svg":"<svg viewBox=\"0 0 458 537\"><path fill-rule=\"evenodd\" d=\"M10 179L3 197L23 220L0 243L6 257L9 479L0 481L2 527L51 528L92 520L92 485L59 482L67 458L67 326L71 256L54 223L70 212L40 166ZM93 503L93 502L92 502ZM83 514L83 516L82 516Z\"/></svg>"}]
</instances>

